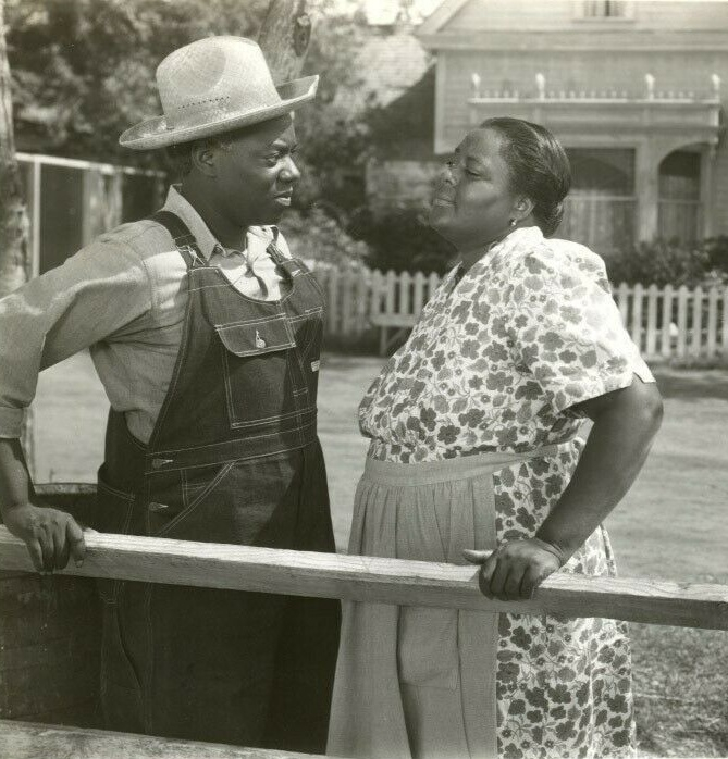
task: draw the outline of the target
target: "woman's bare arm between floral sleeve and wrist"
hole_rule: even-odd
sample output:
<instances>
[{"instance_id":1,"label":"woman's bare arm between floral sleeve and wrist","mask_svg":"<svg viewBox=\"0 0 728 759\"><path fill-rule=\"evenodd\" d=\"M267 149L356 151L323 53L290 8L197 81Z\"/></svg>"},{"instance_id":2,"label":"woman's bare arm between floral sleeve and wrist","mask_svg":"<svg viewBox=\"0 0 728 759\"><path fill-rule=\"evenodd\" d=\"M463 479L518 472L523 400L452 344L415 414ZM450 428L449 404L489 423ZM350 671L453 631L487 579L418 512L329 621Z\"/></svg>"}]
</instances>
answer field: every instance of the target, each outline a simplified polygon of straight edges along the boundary
<instances>
[{"instance_id":1,"label":"woman's bare arm between floral sleeve and wrist","mask_svg":"<svg viewBox=\"0 0 728 759\"><path fill-rule=\"evenodd\" d=\"M565 557L587 540L629 490L662 421L656 387L639 380L582 408L594 426L568 486L536 532Z\"/></svg>"}]
</instances>

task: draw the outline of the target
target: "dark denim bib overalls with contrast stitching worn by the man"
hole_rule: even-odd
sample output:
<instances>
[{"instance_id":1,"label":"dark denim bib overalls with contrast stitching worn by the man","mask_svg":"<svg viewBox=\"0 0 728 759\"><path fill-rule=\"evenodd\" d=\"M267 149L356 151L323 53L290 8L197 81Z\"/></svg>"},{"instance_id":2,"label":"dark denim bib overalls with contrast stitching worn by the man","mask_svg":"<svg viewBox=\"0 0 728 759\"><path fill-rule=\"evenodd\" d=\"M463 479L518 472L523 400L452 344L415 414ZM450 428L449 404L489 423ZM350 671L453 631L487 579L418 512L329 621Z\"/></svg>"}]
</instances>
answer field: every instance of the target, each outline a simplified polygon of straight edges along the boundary
<instances>
[{"instance_id":1,"label":"dark denim bib overalls with contrast stitching worn by the man","mask_svg":"<svg viewBox=\"0 0 728 759\"><path fill-rule=\"evenodd\" d=\"M188 269L173 377L148 445L110 412L98 530L334 551L316 433L322 296L269 254L288 295L260 301L208 266L176 215L153 220ZM107 727L323 752L337 600L106 581Z\"/></svg>"}]
</instances>

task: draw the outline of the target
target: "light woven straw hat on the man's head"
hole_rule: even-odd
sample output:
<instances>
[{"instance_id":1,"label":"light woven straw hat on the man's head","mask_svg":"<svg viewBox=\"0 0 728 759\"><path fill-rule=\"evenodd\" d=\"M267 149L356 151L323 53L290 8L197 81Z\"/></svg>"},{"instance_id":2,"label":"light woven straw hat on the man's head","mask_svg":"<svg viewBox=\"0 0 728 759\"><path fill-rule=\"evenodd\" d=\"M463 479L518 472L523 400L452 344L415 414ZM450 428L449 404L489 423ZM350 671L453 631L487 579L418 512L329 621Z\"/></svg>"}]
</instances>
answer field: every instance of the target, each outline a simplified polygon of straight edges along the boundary
<instances>
[{"instance_id":1,"label":"light woven straw hat on the man's head","mask_svg":"<svg viewBox=\"0 0 728 759\"><path fill-rule=\"evenodd\" d=\"M275 119L316 96L318 76L277 87L256 42L208 37L170 53L157 67L164 115L119 138L133 150L165 148Z\"/></svg>"}]
</instances>

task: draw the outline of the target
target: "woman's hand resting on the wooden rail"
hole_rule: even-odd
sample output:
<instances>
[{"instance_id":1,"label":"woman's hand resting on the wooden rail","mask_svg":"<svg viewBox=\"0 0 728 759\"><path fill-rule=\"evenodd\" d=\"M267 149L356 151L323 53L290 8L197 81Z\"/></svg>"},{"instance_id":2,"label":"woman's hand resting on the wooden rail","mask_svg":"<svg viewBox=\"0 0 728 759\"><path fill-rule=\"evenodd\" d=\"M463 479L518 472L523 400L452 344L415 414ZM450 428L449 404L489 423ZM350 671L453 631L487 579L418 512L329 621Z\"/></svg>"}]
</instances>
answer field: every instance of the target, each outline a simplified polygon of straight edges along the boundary
<instances>
[{"instance_id":1,"label":"woman's hand resting on the wooden rail","mask_svg":"<svg viewBox=\"0 0 728 759\"><path fill-rule=\"evenodd\" d=\"M492 552L466 549L462 556L482 564L478 576L481 593L502 601L531 598L539 584L566 563L556 546L538 537L505 543Z\"/></svg>"}]
</instances>

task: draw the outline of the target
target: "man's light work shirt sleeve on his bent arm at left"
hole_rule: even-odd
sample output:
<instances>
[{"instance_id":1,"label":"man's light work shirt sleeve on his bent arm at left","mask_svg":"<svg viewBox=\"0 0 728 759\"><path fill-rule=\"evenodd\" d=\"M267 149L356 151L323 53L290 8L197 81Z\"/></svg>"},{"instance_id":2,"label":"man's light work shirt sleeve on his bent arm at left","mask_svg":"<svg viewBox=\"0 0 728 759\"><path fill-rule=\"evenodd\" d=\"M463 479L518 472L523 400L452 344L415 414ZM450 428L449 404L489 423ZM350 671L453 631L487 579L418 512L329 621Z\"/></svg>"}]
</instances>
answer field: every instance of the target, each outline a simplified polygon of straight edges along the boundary
<instances>
[{"instance_id":1,"label":"man's light work shirt sleeve on his bent arm at left","mask_svg":"<svg viewBox=\"0 0 728 759\"><path fill-rule=\"evenodd\" d=\"M38 374L149 311L145 262L99 238L0 299L0 437L18 437Z\"/></svg>"}]
</instances>

